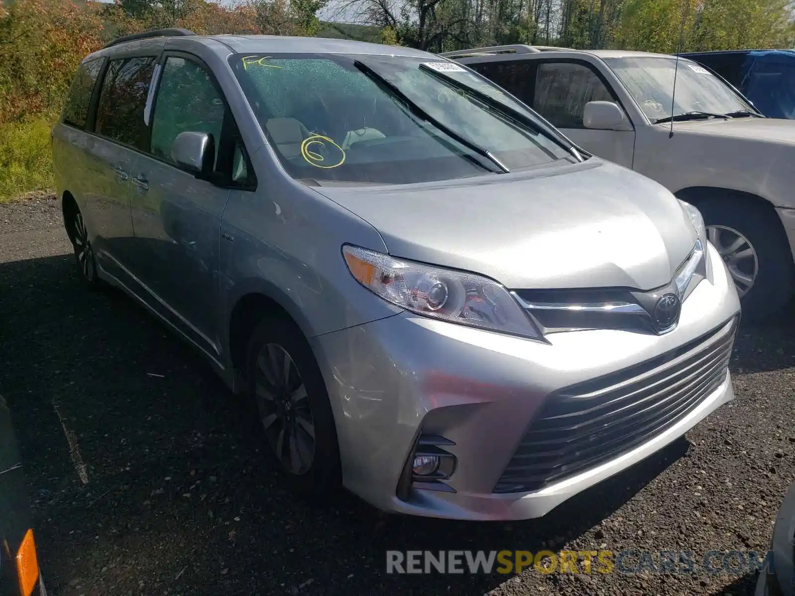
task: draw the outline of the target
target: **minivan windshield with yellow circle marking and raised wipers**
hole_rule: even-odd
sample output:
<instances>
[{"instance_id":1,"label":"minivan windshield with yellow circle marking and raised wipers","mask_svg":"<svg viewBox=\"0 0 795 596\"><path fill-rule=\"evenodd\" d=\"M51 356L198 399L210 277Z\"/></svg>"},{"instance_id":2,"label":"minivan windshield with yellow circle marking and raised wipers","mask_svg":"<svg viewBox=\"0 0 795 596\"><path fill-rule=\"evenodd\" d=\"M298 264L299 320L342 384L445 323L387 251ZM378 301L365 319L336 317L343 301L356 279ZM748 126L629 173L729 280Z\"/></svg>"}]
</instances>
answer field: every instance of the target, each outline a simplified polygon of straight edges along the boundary
<instances>
[{"instance_id":1,"label":"minivan windshield with yellow circle marking and raised wipers","mask_svg":"<svg viewBox=\"0 0 795 596\"><path fill-rule=\"evenodd\" d=\"M410 184L572 158L552 134L543 134L545 126L529 108L451 62L236 54L230 64L271 146L297 180ZM525 124L495 105L521 115Z\"/></svg>"}]
</instances>

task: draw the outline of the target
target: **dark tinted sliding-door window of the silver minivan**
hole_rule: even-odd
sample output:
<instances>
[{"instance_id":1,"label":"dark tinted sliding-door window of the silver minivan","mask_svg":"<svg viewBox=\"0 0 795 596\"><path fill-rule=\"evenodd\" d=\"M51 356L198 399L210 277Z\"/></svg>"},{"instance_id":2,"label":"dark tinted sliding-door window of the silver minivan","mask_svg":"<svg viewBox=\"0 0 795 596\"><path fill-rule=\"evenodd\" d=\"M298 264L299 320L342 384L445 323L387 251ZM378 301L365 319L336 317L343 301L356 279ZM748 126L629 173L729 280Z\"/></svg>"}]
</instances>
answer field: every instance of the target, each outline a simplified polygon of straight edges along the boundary
<instances>
[{"instance_id":1,"label":"dark tinted sliding-door window of the silver minivan","mask_svg":"<svg viewBox=\"0 0 795 596\"><path fill-rule=\"evenodd\" d=\"M97 133L142 148L144 108L154 63L154 56L111 60L99 96Z\"/></svg>"}]
</instances>

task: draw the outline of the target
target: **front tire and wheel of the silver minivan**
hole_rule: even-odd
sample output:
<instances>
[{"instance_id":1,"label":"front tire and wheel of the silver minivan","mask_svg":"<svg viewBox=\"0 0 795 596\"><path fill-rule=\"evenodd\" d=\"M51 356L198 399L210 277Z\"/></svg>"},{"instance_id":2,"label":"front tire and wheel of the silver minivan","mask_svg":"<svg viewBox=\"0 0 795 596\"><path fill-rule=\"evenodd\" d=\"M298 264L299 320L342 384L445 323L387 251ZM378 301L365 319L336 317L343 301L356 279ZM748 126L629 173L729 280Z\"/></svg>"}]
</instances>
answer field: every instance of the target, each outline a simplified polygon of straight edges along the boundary
<instances>
[{"instance_id":1,"label":"front tire and wheel of the silver minivan","mask_svg":"<svg viewBox=\"0 0 795 596\"><path fill-rule=\"evenodd\" d=\"M258 323L246 358L248 394L273 462L294 490L326 496L339 486L339 447L328 391L312 348L285 317Z\"/></svg>"}]
</instances>

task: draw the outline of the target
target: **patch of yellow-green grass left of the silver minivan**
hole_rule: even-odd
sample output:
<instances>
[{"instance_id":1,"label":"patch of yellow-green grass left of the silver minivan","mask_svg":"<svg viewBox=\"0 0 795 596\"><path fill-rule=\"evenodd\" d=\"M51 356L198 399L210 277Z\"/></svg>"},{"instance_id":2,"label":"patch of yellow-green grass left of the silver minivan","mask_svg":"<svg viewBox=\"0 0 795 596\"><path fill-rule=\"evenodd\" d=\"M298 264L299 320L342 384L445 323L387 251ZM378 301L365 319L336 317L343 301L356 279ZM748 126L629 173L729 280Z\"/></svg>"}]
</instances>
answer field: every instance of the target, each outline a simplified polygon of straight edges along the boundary
<instances>
[{"instance_id":1,"label":"patch of yellow-green grass left of the silver minivan","mask_svg":"<svg viewBox=\"0 0 795 596\"><path fill-rule=\"evenodd\" d=\"M0 124L0 203L55 186L49 118Z\"/></svg>"}]
</instances>

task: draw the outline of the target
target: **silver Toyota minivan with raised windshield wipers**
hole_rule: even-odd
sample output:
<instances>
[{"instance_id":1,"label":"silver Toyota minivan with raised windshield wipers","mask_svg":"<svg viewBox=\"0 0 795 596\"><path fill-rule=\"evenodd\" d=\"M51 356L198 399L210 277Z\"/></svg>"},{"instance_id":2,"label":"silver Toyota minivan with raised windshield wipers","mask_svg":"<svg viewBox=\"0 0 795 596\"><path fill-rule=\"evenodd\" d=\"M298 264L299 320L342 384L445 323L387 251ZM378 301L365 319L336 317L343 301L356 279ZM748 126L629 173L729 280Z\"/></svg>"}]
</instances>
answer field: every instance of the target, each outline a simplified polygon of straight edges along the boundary
<instances>
[{"instance_id":1,"label":"silver Toyota minivan with raised windshield wipers","mask_svg":"<svg viewBox=\"0 0 795 596\"><path fill-rule=\"evenodd\" d=\"M409 48L122 38L53 131L88 284L258 404L300 490L538 517L733 393L699 212Z\"/></svg>"}]
</instances>

